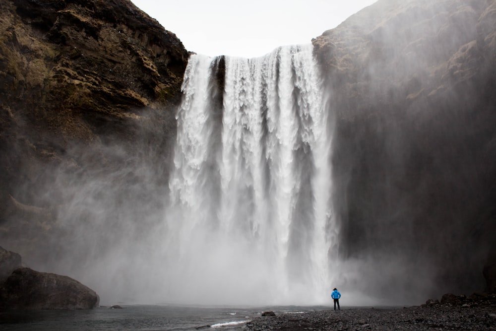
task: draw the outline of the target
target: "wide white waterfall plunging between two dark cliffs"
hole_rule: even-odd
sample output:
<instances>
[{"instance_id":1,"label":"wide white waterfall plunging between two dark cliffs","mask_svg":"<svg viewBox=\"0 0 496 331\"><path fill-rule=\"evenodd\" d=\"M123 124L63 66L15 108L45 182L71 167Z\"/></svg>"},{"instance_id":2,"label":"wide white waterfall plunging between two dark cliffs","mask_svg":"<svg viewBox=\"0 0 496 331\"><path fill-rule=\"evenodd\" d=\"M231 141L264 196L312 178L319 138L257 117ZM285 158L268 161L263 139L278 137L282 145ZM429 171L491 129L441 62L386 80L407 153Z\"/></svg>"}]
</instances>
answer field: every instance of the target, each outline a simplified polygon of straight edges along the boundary
<instances>
[{"instance_id":1,"label":"wide white waterfall plunging between two dark cliffs","mask_svg":"<svg viewBox=\"0 0 496 331\"><path fill-rule=\"evenodd\" d=\"M192 55L163 234L184 302L328 301L330 136L311 45Z\"/></svg>"}]
</instances>

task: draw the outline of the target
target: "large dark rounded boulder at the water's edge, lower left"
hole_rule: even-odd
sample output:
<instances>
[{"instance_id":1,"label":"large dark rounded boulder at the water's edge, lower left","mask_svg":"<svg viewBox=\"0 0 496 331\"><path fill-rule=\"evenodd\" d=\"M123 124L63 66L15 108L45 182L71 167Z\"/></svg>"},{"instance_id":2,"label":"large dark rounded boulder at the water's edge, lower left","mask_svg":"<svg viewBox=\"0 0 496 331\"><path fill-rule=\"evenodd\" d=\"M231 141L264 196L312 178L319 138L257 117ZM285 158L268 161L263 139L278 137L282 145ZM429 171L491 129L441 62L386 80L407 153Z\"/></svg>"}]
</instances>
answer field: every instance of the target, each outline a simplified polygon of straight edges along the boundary
<instances>
[{"instance_id":1,"label":"large dark rounded boulder at the water's edge, lower left","mask_svg":"<svg viewBox=\"0 0 496 331\"><path fill-rule=\"evenodd\" d=\"M26 267L15 269L0 288L0 310L92 309L99 301L77 280Z\"/></svg>"}]
</instances>

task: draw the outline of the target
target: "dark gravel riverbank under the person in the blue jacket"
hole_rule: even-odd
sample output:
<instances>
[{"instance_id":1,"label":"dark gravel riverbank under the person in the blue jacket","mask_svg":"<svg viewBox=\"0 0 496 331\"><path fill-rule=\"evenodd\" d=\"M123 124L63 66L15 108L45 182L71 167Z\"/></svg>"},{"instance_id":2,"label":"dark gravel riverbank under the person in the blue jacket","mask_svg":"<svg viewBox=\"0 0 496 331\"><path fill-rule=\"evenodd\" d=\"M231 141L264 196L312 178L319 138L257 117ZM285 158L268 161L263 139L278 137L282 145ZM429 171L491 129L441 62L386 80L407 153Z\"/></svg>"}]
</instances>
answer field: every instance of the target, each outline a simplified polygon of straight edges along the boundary
<instances>
[{"instance_id":1,"label":"dark gravel riverbank under the person in the blue jacket","mask_svg":"<svg viewBox=\"0 0 496 331\"><path fill-rule=\"evenodd\" d=\"M403 308L343 308L260 317L246 330L496 330L496 295L443 296Z\"/></svg>"}]
</instances>

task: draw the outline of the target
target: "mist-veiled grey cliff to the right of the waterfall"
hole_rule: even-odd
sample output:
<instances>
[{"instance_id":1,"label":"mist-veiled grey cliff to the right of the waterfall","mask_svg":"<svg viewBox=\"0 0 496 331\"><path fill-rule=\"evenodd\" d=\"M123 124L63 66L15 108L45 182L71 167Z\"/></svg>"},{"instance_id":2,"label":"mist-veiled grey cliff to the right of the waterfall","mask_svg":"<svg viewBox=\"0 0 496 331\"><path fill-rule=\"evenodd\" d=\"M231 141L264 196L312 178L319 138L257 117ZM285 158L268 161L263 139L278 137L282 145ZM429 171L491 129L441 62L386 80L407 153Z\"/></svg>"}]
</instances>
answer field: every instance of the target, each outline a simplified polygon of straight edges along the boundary
<instances>
[{"instance_id":1,"label":"mist-veiled grey cliff to the right of the waterfall","mask_svg":"<svg viewBox=\"0 0 496 331\"><path fill-rule=\"evenodd\" d=\"M496 252L495 22L493 0L379 0L313 40L335 114L339 254L374 261L362 266L368 292L485 286Z\"/></svg>"}]
</instances>

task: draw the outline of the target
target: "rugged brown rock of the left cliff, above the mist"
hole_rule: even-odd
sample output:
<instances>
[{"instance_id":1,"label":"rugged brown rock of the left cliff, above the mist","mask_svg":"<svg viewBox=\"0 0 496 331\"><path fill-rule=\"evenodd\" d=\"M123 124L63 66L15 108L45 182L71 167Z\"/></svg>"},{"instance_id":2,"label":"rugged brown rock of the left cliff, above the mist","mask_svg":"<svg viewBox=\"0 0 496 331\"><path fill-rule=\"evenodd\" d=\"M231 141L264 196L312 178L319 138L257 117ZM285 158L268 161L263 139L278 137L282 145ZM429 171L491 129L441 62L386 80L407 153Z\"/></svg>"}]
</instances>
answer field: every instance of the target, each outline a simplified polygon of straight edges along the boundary
<instances>
[{"instance_id":1,"label":"rugged brown rock of the left cliff, above the mist","mask_svg":"<svg viewBox=\"0 0 496 331\"><path fill-rule=\"evenodd\" d=\"M15 207L8 194L19 170L35 182L47 162L77 166L71 144L113 134L129 142L152 118L174 135L188 53L130 1L2 0L0 8L2 180L10 184L2 205Z\"/></svg>"}]
</instances>

